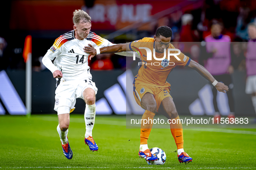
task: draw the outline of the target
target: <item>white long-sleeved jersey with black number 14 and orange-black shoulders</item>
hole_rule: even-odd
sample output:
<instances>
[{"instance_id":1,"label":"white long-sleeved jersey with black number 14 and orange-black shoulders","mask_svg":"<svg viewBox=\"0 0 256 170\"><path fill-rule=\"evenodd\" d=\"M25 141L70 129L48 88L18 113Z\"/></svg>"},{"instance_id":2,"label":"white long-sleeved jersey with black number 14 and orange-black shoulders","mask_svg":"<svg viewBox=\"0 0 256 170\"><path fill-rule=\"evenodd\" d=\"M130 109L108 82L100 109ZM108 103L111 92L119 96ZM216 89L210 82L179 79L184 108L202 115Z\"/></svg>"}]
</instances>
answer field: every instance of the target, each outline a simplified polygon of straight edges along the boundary
<instances>
[{"instance_id":1,"label":"white long-sleeved jersey with black number 14 and orange-black shoulders","mask_svg":"<svg viewBox=\"0 0 256 170\"><path fill-rule=\"evenodd\" d=\"M94 32L90 32L84 40L78 40L75 38L75 30L73 30L57 38L42 61L52 72L57 69L62 71L62 79L92 79L87 62L89 54L85 53L83 49L88 44L91 44L94 48L112 45L110 41L101 38ZM55 59L54 65L49 63L49 59Z\"/></svg>"}]
</instances>

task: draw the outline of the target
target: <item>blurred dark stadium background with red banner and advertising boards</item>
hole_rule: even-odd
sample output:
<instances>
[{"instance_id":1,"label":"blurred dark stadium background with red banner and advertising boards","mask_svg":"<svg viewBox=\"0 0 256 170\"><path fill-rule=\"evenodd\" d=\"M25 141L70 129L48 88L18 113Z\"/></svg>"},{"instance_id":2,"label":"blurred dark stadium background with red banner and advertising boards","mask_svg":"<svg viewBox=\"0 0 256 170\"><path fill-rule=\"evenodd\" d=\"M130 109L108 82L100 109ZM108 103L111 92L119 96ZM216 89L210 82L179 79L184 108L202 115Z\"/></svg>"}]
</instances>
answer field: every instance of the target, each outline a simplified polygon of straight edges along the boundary
<instances>
[{"instance_id":1,"label":"blurred dark stadium background with red banner and advertising boards","mask_svg":"<svg viewBox=\"0 0 256 170\"><path fill-rule=\"evenodd\" d=\"M1 4L0 114L26 114L23 47L27 35L32 36L32 114L55 113L55 79L43 66L42 57L59 35L73 29L73 11L83 9L91 16L91 31L113 43L152 37L156 28L168 25L173 31L172 43L202 65L206 53L204 38L211 34L213 22L222 23L222 34L232 41L235 114L255 116L250 95L245 94L246 48L241 45L249 39L247 25L256 22L255 0L10 0ZM235 55L236 49L239 55ZM97 114L125 114L125 84L136 74L136 63L109 54L94 57L89 65L98 88ZM200 95L200 91L211 89L199 74L176 67L168 82L179 114L214 114L212 94L204 91L206 96ZM221 114L227 115L227 97L222 97L218 107ZM84 101L78 99L74 113L84 113L84 107ZM130 108L129 113L135 112Z\"/></svg>"}]
</instances>

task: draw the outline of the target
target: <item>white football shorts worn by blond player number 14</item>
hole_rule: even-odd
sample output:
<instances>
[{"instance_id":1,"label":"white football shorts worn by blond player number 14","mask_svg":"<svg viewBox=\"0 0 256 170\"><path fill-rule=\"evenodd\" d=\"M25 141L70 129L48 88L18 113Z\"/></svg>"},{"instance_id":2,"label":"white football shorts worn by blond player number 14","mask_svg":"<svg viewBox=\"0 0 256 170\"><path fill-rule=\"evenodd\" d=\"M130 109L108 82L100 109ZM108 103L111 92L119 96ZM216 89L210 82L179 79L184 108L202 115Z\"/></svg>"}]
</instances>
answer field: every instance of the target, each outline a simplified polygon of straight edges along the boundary
<instances>
[{"instance_id":1,"label":"white football shorts worn by blond player number 14","mask_svg":"<svg viewBox=\"0 0 256 170\"><path fill-rule=\"evenodd\" d=\"M83 92L86 88L94 89L95 94L97 94L98 89L90 79L61 80L55 90L54 110L57 111L60 106L68 106L71 109L75 108L76 99L84 99Z\"/></svg>"}]
</instances>

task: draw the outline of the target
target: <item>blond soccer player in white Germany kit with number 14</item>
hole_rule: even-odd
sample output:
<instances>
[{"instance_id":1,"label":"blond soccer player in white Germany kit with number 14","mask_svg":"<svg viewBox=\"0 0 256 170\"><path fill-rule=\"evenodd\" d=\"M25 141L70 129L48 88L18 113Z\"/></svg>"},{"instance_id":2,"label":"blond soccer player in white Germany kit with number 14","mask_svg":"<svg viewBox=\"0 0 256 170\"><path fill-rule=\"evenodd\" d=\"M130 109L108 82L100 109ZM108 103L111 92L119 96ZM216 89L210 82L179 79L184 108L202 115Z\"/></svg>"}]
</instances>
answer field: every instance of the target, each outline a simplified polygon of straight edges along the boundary
<instances>
[{"instance_id":1,"label":"blond soccer player in white Germany kit with number 14","mask_svg":"<svg viewBox=\"0 0 256 170\"><path fill-rule=\"evenodd\" d=\"M42 59L43 64L57 79L54 110L58 113L57 131L62 142L62 150L68 159L73 157L67 138L69 113L75 109L76 98L82 98L86 103L84 142L91 151L98 150L98 146L92 137L97 88L95 83L92 82L90 67L87 63L89 54L85 53L83 48L89 45L99 49L112 45L108 40L90 31L91 17L86 12L79 9L75 10L73 15L74 30L57 38ZM133 56L132 52L117 54ZM52 63L52 60L54 60L54 63Z\"/></svg>"}]
</instances>

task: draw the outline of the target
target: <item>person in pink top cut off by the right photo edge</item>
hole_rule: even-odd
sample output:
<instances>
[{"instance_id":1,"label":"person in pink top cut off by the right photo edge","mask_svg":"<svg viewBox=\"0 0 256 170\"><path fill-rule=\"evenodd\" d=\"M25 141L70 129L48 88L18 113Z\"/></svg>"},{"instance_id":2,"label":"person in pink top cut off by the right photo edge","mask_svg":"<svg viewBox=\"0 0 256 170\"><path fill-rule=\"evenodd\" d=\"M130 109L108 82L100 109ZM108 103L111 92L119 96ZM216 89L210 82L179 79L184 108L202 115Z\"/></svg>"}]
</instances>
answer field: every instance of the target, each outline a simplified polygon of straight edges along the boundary
<instances>
[{"instance_id":1,"label":"person in pink top cut off by the right photo edge","mask_svg":"<svg viewBox=\"0 0 256 170\"><path fill-rule=\"evenodd\" d=\"M246 54L246 94L252 95L252 102L256 112L256 24L250 23L248 25L248 34L250 40L247 45Z\"/></svg>"}]
</instances>

